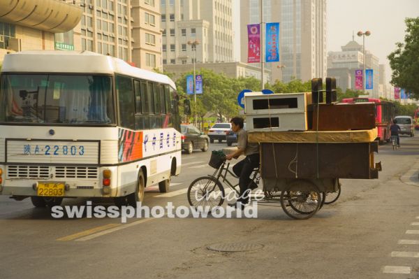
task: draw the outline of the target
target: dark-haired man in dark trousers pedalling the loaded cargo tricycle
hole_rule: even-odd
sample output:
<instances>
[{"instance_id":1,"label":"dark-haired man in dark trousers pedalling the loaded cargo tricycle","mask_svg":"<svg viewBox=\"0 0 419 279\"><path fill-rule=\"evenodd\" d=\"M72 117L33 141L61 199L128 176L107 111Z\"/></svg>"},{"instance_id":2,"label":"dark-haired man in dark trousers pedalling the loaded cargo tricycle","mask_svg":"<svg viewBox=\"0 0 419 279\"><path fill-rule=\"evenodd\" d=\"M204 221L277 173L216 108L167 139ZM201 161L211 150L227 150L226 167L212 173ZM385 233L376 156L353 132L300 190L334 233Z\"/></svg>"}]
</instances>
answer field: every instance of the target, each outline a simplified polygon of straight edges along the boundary
<instances>
[{"instance_id":1,"label":"dark-haired man in dark trousers pedalling the loaded cargo tricycle","mask_svg":"<svg viewBox=\"0 0 419 279\"><path fill-rule=\"evenodd\" d=\"M258 187L256 183L251 184L250 187L249 184L253 169L259 167L259 145L258 143L249 143L247 141L247 131L243 129L244 120L242 117L233 117L230 123L231 129L237 133L237 150L227 155L226 159L237 159L242 154L246 158L233 166L233 173L239 177L240 197L236 203L228 203L228 205L237 208L241 204L243 208L245 204L249 203L250 191Z\"/></svg>"}]
</instances>

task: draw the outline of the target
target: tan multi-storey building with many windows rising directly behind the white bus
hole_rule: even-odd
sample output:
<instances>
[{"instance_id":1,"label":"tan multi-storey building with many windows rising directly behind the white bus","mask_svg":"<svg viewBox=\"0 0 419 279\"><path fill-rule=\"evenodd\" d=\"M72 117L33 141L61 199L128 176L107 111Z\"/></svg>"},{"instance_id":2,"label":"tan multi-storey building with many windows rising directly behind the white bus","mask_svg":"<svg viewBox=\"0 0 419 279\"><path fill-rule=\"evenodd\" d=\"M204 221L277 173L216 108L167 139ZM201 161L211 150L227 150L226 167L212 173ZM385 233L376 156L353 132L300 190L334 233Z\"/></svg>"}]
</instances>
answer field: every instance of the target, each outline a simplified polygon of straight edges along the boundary
<instances>
[{"instance_id":1,"label":"tan multi-storey building with many windows rising directly behind the white bus","mask_svg":"<svg viewBox=\"0 0 419 279\"><path fill-rule=\"evenodd\" d=\"M159 0L86 0L82 50L161 69Z\"/></svg>"}]
</instances>

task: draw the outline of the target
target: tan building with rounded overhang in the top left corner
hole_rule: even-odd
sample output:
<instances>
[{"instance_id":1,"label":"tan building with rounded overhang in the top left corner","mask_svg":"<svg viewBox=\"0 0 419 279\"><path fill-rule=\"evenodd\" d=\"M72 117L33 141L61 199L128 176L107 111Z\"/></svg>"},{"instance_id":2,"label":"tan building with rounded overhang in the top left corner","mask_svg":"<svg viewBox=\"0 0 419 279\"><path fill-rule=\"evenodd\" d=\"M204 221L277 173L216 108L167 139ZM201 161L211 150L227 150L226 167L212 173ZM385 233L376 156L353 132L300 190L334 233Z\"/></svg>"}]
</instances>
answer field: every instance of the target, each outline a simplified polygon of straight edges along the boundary
<instances>
[{"instance_id":1,"label":"tan building with rounded overhang in the top left corner","mask_svg":"<svg viewBox=\"0 0 419 279\"><path fill-rule=\"evenodd\" d=\"M80 34L80 6L58 0L0 0L0 10L0 63L8 52L80 49L80 36L73 40ZM68 34L71 40L65 41Z\"/></svg>"}]
</instances>

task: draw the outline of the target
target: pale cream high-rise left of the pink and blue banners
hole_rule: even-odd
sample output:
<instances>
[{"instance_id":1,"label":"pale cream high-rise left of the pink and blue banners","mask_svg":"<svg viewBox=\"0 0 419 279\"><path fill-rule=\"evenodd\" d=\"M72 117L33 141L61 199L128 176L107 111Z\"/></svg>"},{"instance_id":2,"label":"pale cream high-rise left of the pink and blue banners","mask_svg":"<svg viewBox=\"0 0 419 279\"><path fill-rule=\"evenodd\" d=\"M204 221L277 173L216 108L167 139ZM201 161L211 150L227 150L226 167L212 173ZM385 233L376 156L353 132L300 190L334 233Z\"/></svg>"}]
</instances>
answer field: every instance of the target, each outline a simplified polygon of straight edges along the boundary
<instances>
[{"instance_id":1,"label":"pale cream high-rise left of the pink and blue banners","mask_svg":"<svg viewBox=\"0 0 419 279\"><path fill-rule=\"evenodd\" d=\"M232 0L161 0L163 64L233 61Z\"/></svg>"}]
</instances>

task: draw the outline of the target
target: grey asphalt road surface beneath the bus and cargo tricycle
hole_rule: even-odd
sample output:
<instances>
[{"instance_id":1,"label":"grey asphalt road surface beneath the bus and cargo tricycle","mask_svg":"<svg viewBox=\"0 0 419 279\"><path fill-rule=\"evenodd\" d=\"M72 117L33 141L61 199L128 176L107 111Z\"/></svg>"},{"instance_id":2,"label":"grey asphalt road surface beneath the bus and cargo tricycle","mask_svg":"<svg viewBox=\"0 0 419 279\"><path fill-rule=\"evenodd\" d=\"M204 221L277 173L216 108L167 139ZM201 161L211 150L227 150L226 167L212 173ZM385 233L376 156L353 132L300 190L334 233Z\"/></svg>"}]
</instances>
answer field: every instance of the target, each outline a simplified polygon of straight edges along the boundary
<instances>
[{"instance_id":1,"label":"grey asphalt road surface beneath the bus and cargo tricycle","mask_svg":"<svg viewBox=\"0 0 419 279\"><path fill-rule=\"evenodd\" d=\"M182 155L170 192L152 187L145 204L186 206L189 183L212 172L209 158ZM302 221L275 203L259 205L257 219L54 219L0 196L0 278L419 278L419 138L381 146L378 161L378 180L342 180L339 200ZM207 250L217 243L259 249Z\"/></svg>"}]
</instances>

